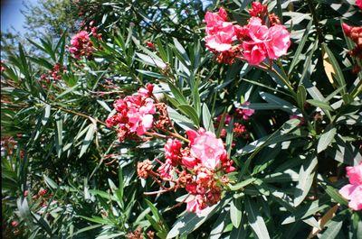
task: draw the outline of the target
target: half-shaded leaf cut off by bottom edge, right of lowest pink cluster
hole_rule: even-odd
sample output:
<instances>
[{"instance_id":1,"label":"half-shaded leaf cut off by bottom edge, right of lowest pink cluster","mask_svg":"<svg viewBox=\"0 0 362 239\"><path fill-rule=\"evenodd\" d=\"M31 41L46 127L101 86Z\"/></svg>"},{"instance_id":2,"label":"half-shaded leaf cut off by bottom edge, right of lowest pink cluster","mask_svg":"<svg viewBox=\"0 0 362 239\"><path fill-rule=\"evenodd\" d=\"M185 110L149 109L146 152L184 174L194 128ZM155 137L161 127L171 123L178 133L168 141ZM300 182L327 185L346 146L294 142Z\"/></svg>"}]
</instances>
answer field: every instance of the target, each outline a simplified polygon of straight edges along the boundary
<instances>
[{"instance_id":1,"label":"half-shaded leaf cut off by bottom edge, right of lowest pink cluster","mask_svg":"<svg viewBox=\"0 0 362 239\"><path fill-rule=\"evenodd\" d=\"M245 197L245 211L248 215L249 225L252 226L252 231L256 234L256 236L259 239L270 238L268 229L262 219L261 211L249 197Z\"/></svg>"}]
</instances>

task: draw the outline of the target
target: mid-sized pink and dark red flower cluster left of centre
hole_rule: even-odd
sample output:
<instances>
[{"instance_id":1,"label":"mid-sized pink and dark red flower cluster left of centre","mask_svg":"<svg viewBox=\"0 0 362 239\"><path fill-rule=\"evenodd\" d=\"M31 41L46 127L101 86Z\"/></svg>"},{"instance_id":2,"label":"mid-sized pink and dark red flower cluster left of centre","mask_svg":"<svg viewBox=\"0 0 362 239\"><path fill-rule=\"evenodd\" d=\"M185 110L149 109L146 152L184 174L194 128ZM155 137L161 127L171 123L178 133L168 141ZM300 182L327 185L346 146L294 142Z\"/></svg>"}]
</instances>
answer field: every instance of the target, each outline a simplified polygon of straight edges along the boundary
<instances>
[{"instance_id":1,"label":"mid-sized pink and dark red flower cluster left of centre","mask_svg":"<svg viewBox=\"0 0 362 239\"><path fill-rule=\"evenodd\" d=\"M153 87L152 84L148 84L146 88L139 88L137 95L118 99L113 104L117 113L110 116L106 123L109 127L118 127L120 142L134 136L135 133L141 136L152 128L153 115L156 113L152 98Z\"/></svg>"}]
</instances>

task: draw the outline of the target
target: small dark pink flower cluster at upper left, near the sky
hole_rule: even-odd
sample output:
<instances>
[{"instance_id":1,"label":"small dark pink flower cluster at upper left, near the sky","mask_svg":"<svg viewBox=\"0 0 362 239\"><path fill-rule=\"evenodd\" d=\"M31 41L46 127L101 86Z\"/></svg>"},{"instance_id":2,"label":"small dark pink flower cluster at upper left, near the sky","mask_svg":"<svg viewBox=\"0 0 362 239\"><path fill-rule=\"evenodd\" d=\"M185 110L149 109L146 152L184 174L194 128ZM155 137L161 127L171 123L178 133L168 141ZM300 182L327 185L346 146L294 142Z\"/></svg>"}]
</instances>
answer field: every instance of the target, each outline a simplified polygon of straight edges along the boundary
<instances>
[{"instance_id":1,"label":"small dark pink flower cluster at upper left, near the sky","mask_svg":"<svg viewBox=\"0 0 362 239\"><path fill-rule=\"evenodd\" d=\"M81 59L82 56L86 56L87 59L91 59L93 53L93 43L90 41L88 32L81 31L71 37L71 47L69 48L74 58Z\"/></svg>"}]
</instances>

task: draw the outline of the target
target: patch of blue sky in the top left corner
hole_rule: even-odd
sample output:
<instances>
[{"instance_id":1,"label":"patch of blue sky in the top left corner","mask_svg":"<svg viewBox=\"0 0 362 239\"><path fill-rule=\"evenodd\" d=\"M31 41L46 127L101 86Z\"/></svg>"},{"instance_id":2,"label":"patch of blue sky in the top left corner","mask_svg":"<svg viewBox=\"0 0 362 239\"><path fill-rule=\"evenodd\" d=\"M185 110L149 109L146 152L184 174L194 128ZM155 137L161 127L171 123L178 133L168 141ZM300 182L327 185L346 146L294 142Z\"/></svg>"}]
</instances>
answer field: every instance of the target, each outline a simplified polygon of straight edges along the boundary
<instances>
[{"instance_id":1,"label":"patch of blue sky in the top left corner","mask_svg":"<svg viewBox=\"0 0 362 239\"><path fill-rule=\"evenodd\" d=\"M23 3L36 4L37 0L1 0L1 31L24 33L24 15L20 10L24 10Z\"/></svg>"}]
</instances>

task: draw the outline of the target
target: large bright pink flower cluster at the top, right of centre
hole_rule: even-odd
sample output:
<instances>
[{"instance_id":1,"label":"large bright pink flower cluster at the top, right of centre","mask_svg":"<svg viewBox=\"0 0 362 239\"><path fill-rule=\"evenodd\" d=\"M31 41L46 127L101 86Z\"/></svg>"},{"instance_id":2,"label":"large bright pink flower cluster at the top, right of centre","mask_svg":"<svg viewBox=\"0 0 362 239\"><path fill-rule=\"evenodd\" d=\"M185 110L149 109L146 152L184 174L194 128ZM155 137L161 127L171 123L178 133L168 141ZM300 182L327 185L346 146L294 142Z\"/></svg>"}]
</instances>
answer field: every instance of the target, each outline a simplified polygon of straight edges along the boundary
<instances>
[{"instance_id":1,"label":"large bright pink flower cluster at the top, right of centre","mask_svg":"<svg viewBox=\"0 0 362 239\"><path fill-rule=\"evenodd\" d=\"M232 64L241 59L259 65L266 58L276 60L287 53L291 34L279 18L268 14L266 5L257 2L252 3L250 14L249 23L244 26L227 22L224 8L217 14L205 14L205 45L218 62Z\"/></svg>"}]
</instances>

